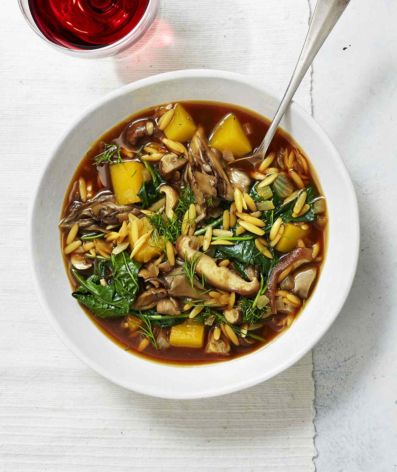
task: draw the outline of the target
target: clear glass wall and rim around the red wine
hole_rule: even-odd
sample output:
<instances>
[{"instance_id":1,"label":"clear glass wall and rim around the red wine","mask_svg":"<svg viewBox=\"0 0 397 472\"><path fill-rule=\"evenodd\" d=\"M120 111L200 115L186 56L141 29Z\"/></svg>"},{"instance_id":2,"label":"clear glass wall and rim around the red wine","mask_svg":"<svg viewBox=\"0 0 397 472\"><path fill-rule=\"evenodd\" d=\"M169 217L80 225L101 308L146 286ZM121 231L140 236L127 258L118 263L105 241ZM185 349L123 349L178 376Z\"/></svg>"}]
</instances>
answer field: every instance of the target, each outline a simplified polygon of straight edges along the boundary
<instances>
[{"instance_id":1,"label":"clear glass wall and rim around the red wine","mask_svg":"<svg viewBox=\"0 0 397 472\"><path fill-rule=\"evenodd\" d=\"M126 34L126 36L122 37L116 42L113 42L112 44L108 44L107 46L103 46L96 49L70 49L65 46L61 46L60 44L56 44L55 42L52 42L47 37L45 37L44 34L42 34L40 28L34 22L33 17L31 18L29 16L30 10L29 12L26 11L22 0L18 0L18 4L27 24L31 27L35 34L37 34L41 39L47 42L47 44L49 44L51 47L56 48L59 51L62 51L72 56L99 58L111 56L117 54L118 52L125 51L128 47L135 44L135 42L138 42L152 26L152 23L159 11L160 0L148 1L144 15L139 20L139 23L135 25L135 28L131 30L128 34Z\"/></svg>"}]
</instances>

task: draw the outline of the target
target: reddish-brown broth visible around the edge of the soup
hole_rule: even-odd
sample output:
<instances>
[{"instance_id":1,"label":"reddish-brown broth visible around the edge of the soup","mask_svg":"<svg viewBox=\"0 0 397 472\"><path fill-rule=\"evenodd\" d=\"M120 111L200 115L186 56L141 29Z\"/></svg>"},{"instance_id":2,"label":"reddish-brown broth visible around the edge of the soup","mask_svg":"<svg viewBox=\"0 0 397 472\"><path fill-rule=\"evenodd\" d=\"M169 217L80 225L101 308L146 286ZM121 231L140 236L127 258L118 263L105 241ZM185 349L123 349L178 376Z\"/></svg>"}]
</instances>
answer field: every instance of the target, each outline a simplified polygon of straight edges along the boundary
<instances>
[{"instance_id":1,"label":"reddish-brown broth visible around the edge of the soup","mask_svg":"<svg viewBox=\"0 0 397 472\"><path fill-rule=\"evenodd\" d=\"M249 141L254 148L259 146L262 142L262 139L269 127L269 120L263 118L261 115L246 110L242 107L238 107L236 105L229 105L225 103L218 103L218 102L206 102L206 101L183 101L181 103L184 108L192 115L196 124L201 124L205 130L205 134L209 136L211 134L212 129L216 124L223 118L227 113L233 112L239 119L240 123L243 125L245 123L250 124L251 134L248 136ZM122 134L124 129L126 128L127 124L129 124L133 119L137 118L149 118L153 117L158 110L159 107L150 108L146 110L141 110L122 122L118 123L117 125L113 126L110 130L106 131L103 135L101 135L97 141L95 141L88 152L85 154L83 159L80 161L79 165L76 168L76 171L73 174L73 177L70 181L68 186L65 199L63 202L62 214L61 217L65 215L65 212L68 209L69 203L75 200L75 194L77 190L77 180L80 176L84 177L86 182L91 181L93 185L93 195L97 194L101 189L108 188L109 184L107 182L101 183L97 178L97 168L93 165L92 159L94 156L98 155L103 150L103 142L111 143L115 141L119 145L122 145ZM278 130L276 135L274 136L269 152L275 151L277 152L279 148L287 147L288 150L292 148L299 148L299 146L295 143L291 136L289 136L284 130ZM127 146L125 146L127 148ZM300 148L299 148L300 149ZM304 152L300 149L301 153L304 155ZM305 156L306 157L306 156ZM307 159L307 157L306 157ZM308 160L308 159L307 159ZM242 168L245 167L244 161ZM318 178L316 173L313 169L313 166L310 165L310 182L313 183L319 194L322 194L321 188L318 182ZM103 177L102 177L103 179ZM61 232L61 247L65 247L65 240L67 234ZM320 228L320 226L314 222L311 224L311 231L307 236L307 239L311 240L313 243L319 241L321 243L321 249L319 252L319 256L322 256L322 259L325 258L326 253L326 239L327 239L327 230L324 228ZM70 272L70 259L68 256L64 256L65 267L68 272L69 280L71 287L75 289L77 287L76 280L72 276ZM319 266L321 269L321 262L318 262L316 265ZM320 270L318 272L318 278L320 276ZM312 288L312 293L315 287ZM311 295L310 295L311 296ZM309 299L310 300L310 297ZM306 302L307 303L307 302ZM206 354L204 353L204 347L197 349L197 348L184 348L184 347L174 347L172 346L170 349L164 351L156 351L154 346L149 345L144 352L138 352L136 347L138 346L139 342L141 341L142 337L140 335L136 336L134 333L131 333L128 328L124 327L123 317L120 318L108 318L108 319L101 319L96 318L93 316L88 310L85 309L83 305L81 305L84 312L90 317L90 319L94 322L94 324L101 329L101 331L109 337L113 342L118 344L121 348L125 349L127 352L131 354L136 354L146 358L147 360L151 360L154 362L162 362L171 365L198 365L198 364L206 364L206 363L213 363L213 362L224 362L230 359L235 359L247 353L253 352L257 349L262 348L263 346L269 344L273 341L276 337L280 335L280 333L284 332L287 328L282 329L281 331L274 330L274 324L270 321L265 320L265 325L261 330L255 331L256 334L264 337L266 339L266 343L262 343L258 341L256 344L252 346L233 346L233 353L228 357L222 357L217 354ZM303 310L298 310L295 314L294 322L300 313ZM285 318L286 315L279 314L276 316L278 319ZM210 329L210 328L209 328ZM207 329L207 331L209 331Z\"/></svg>"}]
</instances>

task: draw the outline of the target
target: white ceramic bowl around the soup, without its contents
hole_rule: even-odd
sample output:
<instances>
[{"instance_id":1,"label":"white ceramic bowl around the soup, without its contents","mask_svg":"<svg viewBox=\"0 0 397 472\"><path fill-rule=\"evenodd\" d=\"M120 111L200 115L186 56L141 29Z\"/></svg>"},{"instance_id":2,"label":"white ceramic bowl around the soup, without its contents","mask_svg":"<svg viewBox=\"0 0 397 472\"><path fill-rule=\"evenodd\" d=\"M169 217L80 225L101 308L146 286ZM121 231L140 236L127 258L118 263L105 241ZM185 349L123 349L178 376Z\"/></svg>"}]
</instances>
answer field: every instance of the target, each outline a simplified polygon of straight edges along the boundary
<instances>
[{"instance_id":1,"label":"white ceramic bowl around the soup, without its contents","mask_svg":"<svg viewBox=\"0 0 397 472\"><path fill-rule=\"evenodd\" d=\"M312 161L329 209L328 256L302 315L269 346L236 360L196 367L147 361L104 336L70 295L62 261L58 222L69 180L91 143L131 113L158 103L194 99L235 103L272 117L281 97L249 77L216 70L169 72L126 85L81 113L59 137L40 175L28 215L34 287L59 337L107 379L164 398L227 394L270 379L297 362L338 316L355 276L359 251L357 201L345 165L322 128L293 102L281 126Z\"/></svg>"}]
</instances>

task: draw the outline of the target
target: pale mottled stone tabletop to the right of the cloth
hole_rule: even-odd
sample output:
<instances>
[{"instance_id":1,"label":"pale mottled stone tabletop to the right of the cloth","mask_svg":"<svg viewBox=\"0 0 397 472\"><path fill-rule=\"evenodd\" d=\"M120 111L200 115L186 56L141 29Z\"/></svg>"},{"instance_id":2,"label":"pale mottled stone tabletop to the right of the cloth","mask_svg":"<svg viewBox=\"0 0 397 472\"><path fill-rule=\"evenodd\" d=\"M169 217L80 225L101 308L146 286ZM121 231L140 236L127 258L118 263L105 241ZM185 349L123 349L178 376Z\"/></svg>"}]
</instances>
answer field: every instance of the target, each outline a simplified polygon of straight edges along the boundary
<instances>
[{"instance_id":1,"label":"pale mottled stone tabletop to the right of the cloth","mask_svg":"<svg viewBox=\"0 0 397 472\"><path fill-rule=\"evenodd\" d=\"M314 118L361 219L353 289L313 349L319 472L397 470L396 21L396 1L352 0L313 64Z\"/></svg>"}]
</instances>

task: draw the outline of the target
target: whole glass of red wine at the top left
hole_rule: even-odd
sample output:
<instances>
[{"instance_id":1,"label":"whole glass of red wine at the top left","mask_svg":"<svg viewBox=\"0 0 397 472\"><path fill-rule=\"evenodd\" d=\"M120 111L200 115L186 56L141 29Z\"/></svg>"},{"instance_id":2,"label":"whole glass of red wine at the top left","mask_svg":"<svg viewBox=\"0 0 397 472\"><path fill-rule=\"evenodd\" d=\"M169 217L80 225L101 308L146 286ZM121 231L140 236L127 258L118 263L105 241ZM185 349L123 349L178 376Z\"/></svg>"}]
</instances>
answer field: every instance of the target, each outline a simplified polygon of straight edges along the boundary
<instances>
[{"instance_id":1,"label":"whole glass of red wine at the top left","mask_svg":"<svg viewBox=\"0 0 397 472\"><path fill-rule=\"evenodd\" d=\"M152 26L160 0L18 0L33 31L67 54L104 58L125 51Z\"/></svg>"}]
</instances>

